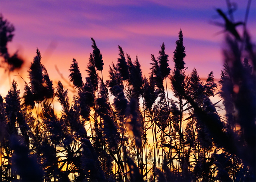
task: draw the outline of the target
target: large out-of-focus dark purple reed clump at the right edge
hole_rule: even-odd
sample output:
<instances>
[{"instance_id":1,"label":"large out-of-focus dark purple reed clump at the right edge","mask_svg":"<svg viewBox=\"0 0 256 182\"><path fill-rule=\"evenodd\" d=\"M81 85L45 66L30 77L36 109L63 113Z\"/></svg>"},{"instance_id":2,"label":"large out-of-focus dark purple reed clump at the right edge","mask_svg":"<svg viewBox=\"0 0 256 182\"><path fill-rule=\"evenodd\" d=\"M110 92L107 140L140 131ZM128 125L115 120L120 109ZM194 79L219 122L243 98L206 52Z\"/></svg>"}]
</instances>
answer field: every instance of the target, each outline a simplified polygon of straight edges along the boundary
<instances>
[{"instance_id":1,"label":"large out-of-focus dark purple reed clump at the right edge","mask_svg":"<svg viewBox=\"0 0 256 182\"><path fill-rule=\"evenodd\" d=\"M256 101L255 101L255 68L250 68L247 60L242 61L242 55L239 51L239 43L227 37L227 49L224 50L225 64L228 65L229 72L225 73L233 84L232 100L234 107L237 110L236 123L241 126L242 137L246 143L244 150L247 148L251 151L250 160L244 157L244 162L247 160L247 165L255 169L255 151L256 151L256 132L255 132L255 117L256 117ZM255 55L255 51L253 53ZM254 56L252 56L254 57ZM249 57L251 58L251 57ZM250 70L254 69L253 72ZM223 82L223 88L226 83ZM222 90L223 91L223 90ZM228 98L225 98L227 100ZM248 114L250 113L250 114ZM241 154L242 155L242 154Z\"/></svg>"}]
</instances>

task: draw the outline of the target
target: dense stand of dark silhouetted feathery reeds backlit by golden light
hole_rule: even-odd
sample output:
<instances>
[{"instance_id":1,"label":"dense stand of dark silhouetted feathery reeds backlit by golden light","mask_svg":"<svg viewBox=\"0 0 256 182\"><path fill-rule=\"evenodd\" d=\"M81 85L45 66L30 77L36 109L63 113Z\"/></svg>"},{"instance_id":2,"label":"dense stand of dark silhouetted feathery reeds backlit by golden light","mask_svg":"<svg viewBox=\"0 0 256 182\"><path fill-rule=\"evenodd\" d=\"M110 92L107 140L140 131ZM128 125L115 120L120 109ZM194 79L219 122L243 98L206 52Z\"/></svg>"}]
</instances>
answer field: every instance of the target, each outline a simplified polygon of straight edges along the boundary
<instances>
[{"instance_id":1,"label":"dense stand of dark silhouetted feathery reeds backlit by golden light","mask_svg":"<svg viewBox=\"0 0 256 182\"><path fill-rule=\"evenodd\" d=\"M3 25L10 26L3 22L1 16L1 39ZM37 49L23 96L16 81L0 96L1 181L255 181L255 45L246 26L241 38L228 33L226 44L218 83L213 72L205 82L196 69L185 72L182 30L174 68L163 43L143 77L138 57L132 61L118 46L104 82L92 38L87 76L75 59L69 69L72 100L61 81L54 88ZM210 100L215 95L224 116Z\"/></svg>"}]
</instances>

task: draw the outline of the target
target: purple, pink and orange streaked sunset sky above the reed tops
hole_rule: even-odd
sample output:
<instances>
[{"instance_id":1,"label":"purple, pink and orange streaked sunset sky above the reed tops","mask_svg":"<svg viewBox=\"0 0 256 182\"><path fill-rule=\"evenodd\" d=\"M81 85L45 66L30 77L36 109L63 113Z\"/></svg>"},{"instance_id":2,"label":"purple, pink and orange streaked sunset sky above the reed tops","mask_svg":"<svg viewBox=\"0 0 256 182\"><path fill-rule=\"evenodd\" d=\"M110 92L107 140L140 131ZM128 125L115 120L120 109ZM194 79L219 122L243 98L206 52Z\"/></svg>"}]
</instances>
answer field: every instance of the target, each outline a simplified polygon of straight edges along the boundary
<instances>
[{"instance_id":1,"label":"purple, pink and orange streaked sunset sky above the reed tops","mask_svg":"<svg viewBox=\"0 0 256 182\"><path fill-rule=\"evenodd\" d=\"M230 1L234 7L234 21L244 21L246 0ZM164 42L173 70L173 52L178 32L182 29L183 44L187 56L186 74L196 68L204 79L214 72L216 81L220 78L223 65L221 49L225 34L218 32L223 27L212 22L224 23L217 14L220 8L227 12L224 0L177 0L177 1L67 1L67 0L26 0L0 1L0 12L15 27L14 38L7 46L9 52L25 60L20 70L8 73L0 67L0 94L4 97L15 79L18 88L24 89L36 48L42 55L54 86L61 75L68 80L69 67L75 58L83 79L86 65L92 53L91 37L95 39L104 61L104 81L108 79L109 65L118 59L118 45L134 61L136 55L142 66L143 75L150 72L150 55L158 57ZM247 27L252 40L256 39L256 1L252 0ZM242 28L238 28L242 31ZM59 70L60 74L56 70ZM17 76L17 75L20 76Z\"/></svg>"}]
</instances>

